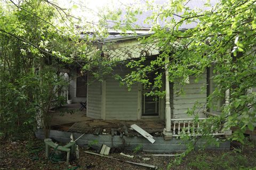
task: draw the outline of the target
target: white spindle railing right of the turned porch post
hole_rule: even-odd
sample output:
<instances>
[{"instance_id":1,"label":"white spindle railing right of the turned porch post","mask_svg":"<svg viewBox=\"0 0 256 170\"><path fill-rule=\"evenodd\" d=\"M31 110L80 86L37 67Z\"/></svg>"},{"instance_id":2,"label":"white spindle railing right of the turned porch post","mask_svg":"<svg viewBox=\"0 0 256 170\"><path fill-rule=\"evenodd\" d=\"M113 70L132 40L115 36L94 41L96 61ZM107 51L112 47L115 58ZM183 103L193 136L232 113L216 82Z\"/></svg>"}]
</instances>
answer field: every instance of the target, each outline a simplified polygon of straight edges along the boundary
<instances>
[{"instance_id":1,"label":"white spindle railing right of the turned porch post","mask_svg":"<svg viewBox=\"0 0 256 170\"><path fill-rule=\"evenodd\" d=\"M180 137L182 134L188 134L190 136L201 136L203 133L202 124L206 118L198 118L195 121L194 118L173 118L171 120L172 137ZM221 128L216 128L213 125L209 128L209 135L223 135Z\"/></svg>"}]
</instances>

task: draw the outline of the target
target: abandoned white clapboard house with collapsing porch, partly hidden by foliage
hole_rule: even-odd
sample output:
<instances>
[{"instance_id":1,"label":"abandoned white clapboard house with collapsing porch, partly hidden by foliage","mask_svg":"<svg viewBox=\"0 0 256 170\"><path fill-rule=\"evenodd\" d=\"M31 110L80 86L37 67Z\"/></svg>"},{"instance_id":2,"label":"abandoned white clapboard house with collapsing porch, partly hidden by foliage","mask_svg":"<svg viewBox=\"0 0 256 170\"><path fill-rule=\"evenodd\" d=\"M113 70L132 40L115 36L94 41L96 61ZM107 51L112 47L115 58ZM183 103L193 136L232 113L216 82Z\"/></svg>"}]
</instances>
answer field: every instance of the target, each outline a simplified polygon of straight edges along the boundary
<instances>
[{"instance_id":1,"label":"abandoned white clapboard house with collapsing porch, partly hidden by foliage","mask_svg":"<svg viewBox=\"0 0 256 170\"><path fill-rule=\"evenodd\" d=\"M203 1L189 1L187 5L202 7L203 4ZM140 17L137 24L143 23L144 19L146 16ZM180 30L191 29L195 24L183 24ZM150 36L148 33L150 27L149 24L141 24L143 29L138 30L137 36L110 33L108 38L98 42L97 47L102 48L104 56L113 59L118 57L119 60L126 61L146 56L146 62L150 62L159 55L158 47L154 44L141 44L138 40L140 37ZM81 37L83 38L83 35ZM108 43L111 43L111 48ZM187 84L183 86L184 95L177 95L181 88L179 82L166 81L169 80L169 73L163 69L162 72L165 74L163 74L162 90L166 91L164 98L145 95L150 89L144 89L140 83L133 84L129 91L127 87L120 86L120 82L111 75L104 77L101 82L94 80L90 73L81 75L79 68L75 66L68 72L70 78L68 94L72 103L64 106L62 110L74 109L74 113L65 113L64 116L59 116L58 111L54 113L50 137L59 141L69 141L71 132L75 137L86 133L77 141L78 145L98 140L98 146L105 144L110 147L134 148L141 144L143 150L152 152L184 150L186 147L180 145L180 141L175 137L182 133L185 126L188 128L187 133L197 135L195 129L200 125L193 123L193 115L186 113L188 109L196 103L201 104L195 112L199 113L199 120L203 121L209 115L218 116L220 107L225 103L225 100L220 100L216 103L216 108L208 111L204 107L207 95L215 88L215 84L210 79L213 75L212 68L205 70L198 82L195 82L195 77L189 77ZM131 70L120 64L114 68L114 72L124 77ZM148 79L153 81L154 74L150 74ZM226 102L228 95L229 92L226 91ZM141 137L132 130L130 128L132 124L137 124L153 135L155 142L150 143L146 137ZM189 130L189 127L193 127L194 130ZM221 137L226 132L216 131L212 134ZM37 136L43 138L43 132L38 131ZM198 142L198 145L202 143ZM226 141L220 145L220 149L229 149L229 145L229 141Z\"/></svg>"}]
</instances>

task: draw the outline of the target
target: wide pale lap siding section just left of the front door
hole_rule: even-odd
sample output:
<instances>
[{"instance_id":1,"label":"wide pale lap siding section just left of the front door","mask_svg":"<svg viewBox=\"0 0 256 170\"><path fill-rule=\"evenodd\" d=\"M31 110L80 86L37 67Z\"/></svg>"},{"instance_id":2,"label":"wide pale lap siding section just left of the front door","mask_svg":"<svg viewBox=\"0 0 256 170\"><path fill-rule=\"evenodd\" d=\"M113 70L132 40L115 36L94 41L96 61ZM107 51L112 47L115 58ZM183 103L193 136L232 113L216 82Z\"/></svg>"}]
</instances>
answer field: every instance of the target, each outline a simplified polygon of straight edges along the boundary
<instances>
[{"instance_id":1,"label":"wide pale lap siding section just left of the front door","mask_svg":"<svg viewBox=\"0 0 256 170\"><path fill-rule=\"evenodd\" d=\"M124 77L128 69L115 69L115 72ZM137 120L138 113L138 86L120 86L119 82L110 76L106 79L106 119L107 120Z\"/></svg>"}]
</instances>

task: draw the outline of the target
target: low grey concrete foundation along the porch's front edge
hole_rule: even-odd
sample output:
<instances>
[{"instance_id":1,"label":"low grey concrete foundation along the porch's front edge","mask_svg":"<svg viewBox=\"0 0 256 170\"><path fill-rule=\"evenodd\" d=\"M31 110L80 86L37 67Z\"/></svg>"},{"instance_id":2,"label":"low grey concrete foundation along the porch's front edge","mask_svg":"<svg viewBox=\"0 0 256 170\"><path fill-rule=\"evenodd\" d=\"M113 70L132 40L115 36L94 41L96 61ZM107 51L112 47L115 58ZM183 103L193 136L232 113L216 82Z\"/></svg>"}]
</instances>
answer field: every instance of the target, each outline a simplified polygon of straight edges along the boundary
<instances>
[{"instance_id":1,"label":"low grey concrete foundation along the porch's front edge","mask_svg":"<svg viewBox=\"0 0 256 170\"><path fill-rule=\"evenodd\" d=\"M57 140L58 142L69 142L71 132L62 132L57 130L50 131L50 138ZM80 137L82 133L73 133L74 139ZM36 132L36 137L39 139L44 139L44 133L42 129ZM125 148L127 150L133 150L135 147L142 145L143 151L153 152L153 153L172 153L183 151L186 149L186 145L177 138L172 138L171 140L164 140L163 137L154 137L155 143L150 143L144 137L126 137L125 135L121 138L118 135L108 135L108 134L84 134L79 140L76 141L79 146L92 145L91 147L95 149L100 149L103 144L109 147L115 148ZM97 141L98 143L95 144ZM199 140L197 142L197 147L203 146L205 141ZM225 141L220 144L220 147L208 146L207 149L218 149L218 150L229 150L230 141Z\"/></svg>"}]
</instances>

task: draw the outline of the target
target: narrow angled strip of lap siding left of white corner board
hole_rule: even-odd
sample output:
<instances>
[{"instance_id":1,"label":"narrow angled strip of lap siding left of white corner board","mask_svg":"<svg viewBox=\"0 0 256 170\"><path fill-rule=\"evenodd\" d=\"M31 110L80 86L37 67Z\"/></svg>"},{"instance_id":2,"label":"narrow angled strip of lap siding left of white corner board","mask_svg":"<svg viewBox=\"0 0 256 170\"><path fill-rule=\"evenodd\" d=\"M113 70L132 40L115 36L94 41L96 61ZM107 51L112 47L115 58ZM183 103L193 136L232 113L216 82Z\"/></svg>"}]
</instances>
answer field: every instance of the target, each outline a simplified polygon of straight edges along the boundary
<instances>
[{"instance_id":1,"label":"narrow angled strip of lap siding left of white corner board","mask_svg":"<svg viewBox=\"0 0 256 170\"><path fill-rule=\"evenodd\" d=\"M89 86L87 93L87 116L101 118L101 83L93 81L93 76L89 75Z\"/></svg>"}]
</instances>

